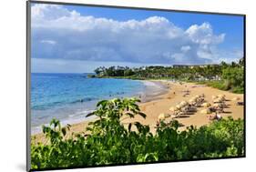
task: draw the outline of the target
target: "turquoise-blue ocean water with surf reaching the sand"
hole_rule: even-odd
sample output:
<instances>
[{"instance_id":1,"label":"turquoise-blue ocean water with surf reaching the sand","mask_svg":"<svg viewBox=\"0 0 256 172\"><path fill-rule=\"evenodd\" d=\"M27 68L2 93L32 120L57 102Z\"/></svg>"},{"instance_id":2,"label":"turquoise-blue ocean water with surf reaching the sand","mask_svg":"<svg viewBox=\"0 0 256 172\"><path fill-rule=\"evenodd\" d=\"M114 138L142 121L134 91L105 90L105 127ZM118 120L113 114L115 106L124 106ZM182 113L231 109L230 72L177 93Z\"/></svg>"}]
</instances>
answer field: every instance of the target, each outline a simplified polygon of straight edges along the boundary
<instances>
[{"instance_id":1,"label":"turquoise-blue ocean water with surf reaching the sand","mask_svg":"<svg viewBox=\"0 0 256 172\"><path fill-rule=\"evenodd\" d=\"M86 74L31 75L32 133L56 117L63 125L87 120L87 113L102 99L159 95L166 88L149 81L113 78L87 78Z\"/></svg>"}]
</instances>

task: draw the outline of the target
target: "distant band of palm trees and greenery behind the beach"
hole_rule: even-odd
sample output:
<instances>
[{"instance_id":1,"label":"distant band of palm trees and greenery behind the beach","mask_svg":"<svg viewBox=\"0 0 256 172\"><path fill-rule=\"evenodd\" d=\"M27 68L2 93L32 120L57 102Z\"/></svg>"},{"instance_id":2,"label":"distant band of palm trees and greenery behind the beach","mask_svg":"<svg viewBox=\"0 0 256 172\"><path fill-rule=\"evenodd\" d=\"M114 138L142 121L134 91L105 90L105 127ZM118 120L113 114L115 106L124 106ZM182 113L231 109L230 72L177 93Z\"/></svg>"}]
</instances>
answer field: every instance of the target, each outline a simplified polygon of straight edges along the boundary
<instances>
[{"instance_id":1,"label":"distant band of palm trees and greenery behind the beach","mask_svg":"<svg viewBox=\"0 0 256 172\"><path fill-rule=\"evenodd\" d=\"M95 69L96 75L90 77L114 77L127 79L171 79L195 82L230 90L233 93L244 92L244 58L238 63L202 66L100 66Z\"/></svg>"}]
</instances>

